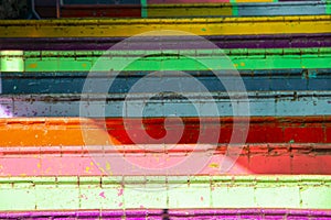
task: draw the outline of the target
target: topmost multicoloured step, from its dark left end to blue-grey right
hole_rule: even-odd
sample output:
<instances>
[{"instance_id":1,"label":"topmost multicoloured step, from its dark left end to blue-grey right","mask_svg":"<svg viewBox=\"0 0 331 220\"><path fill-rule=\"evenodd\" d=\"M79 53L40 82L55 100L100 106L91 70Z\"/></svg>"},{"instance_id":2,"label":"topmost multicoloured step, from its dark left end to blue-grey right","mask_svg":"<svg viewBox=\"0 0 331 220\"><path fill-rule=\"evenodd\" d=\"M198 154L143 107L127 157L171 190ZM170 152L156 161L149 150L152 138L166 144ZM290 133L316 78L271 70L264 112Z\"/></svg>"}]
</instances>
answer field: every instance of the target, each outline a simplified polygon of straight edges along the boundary
<instances>
[{"instance_id":1,"label":"topmost multicoloured step, from its dark left end to blue-grey right","mask_svg":"<svg viewBox=\"0 0 331 220\"><path fill-rule=\"evenodd\" d=\"M42 18L201 18L330 14L328 1L36 1Z\"/></svg>"}]
</instances>

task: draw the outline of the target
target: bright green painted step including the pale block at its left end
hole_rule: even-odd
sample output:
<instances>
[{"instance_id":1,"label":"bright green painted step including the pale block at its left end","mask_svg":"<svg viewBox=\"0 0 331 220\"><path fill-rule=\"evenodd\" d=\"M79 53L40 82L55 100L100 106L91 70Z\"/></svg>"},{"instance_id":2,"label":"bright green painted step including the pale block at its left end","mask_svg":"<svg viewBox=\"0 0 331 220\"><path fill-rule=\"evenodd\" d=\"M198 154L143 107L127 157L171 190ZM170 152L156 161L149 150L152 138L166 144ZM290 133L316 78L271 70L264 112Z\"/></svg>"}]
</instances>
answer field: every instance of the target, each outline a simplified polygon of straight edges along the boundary
<instances>
[{"instance_id":1,"label":"bright green painted step including the pale block at its left end","mask_svg":"<svg viewBox=\"0 0 331 220\"><path fill-rule=\"evenodd\" d=\"M330 47L6 53L1 53L1 72L331 68ZM18 65L13 64L15 62Z\"/></svg>"}]
</instances>

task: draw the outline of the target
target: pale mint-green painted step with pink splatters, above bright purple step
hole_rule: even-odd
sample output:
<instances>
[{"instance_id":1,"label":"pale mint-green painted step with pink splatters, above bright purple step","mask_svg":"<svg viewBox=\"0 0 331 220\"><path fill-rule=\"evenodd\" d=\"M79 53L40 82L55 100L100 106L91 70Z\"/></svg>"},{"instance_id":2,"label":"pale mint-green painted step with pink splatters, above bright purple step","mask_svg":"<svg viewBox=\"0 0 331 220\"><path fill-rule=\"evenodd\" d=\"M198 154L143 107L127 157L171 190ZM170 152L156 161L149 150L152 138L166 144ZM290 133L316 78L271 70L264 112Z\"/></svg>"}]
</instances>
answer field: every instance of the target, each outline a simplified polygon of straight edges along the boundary
<instances>
[{"instance_id":1,"label":"pale mint-green painted step with pink splatters, above bright purple step","mask_svg":"<svg viewBox=\"0 0 331 220\"><path fill-rule=\"evenodd\" d=\"M0 210L129 208L331 209L331 176L0 178Z\"/></svg>"}]
</instances>

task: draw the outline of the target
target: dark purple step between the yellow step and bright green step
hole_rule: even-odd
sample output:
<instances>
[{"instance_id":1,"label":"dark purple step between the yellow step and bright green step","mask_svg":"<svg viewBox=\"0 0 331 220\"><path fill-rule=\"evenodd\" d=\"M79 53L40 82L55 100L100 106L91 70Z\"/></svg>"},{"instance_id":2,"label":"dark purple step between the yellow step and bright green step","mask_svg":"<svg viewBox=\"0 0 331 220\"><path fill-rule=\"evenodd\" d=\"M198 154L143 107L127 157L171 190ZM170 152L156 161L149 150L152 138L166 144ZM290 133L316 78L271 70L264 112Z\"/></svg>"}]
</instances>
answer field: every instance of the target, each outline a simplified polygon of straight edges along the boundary
<instances>
[{"instance_id":1,"label":"dark purple step between the yellow step and bright green step","mask_svg":"<svg viewBox=\"0 0 331 220\"><path fill-rule=\"evenodd\" d=\"M171 45L178 50L177 42L183 41L179 36L164 37L163 41L172 41L173 44L167 43L169 50ZM188 37L188 36L185 36ZM190 36L189 36L190 37ZM206 36L206 40L216 44L220 48L296 48L296 47L330 47L331 33L327 34L284 34L284 35L233 35L233 36ZM68 50L108 50L116 43L119 43L121 37L62 37L62 38L0 38L0 50L22 50L22 51L68 51ZM140 43L148 44L153 37L141 38L137 43L137 47L128 50L139 50ZM190 41L186 38L185 41ZM201 48L201 42L191 42L190 48ZM153 44L151 44L153 45ZM143 47L146 50L146 46ZM150 50L159 50L150 48Z\"/></svg>"}]
</instances>

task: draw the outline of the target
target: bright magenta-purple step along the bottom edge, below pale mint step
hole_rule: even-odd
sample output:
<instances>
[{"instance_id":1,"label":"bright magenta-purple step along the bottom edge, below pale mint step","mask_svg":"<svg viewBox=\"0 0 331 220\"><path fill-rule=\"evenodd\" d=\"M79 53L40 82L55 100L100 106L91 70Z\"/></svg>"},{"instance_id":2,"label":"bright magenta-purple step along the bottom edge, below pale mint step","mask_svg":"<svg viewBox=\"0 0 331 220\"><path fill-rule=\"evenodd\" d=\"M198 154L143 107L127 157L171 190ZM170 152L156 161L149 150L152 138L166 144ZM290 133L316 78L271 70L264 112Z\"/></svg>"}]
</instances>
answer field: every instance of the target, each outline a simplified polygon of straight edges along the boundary
<instances>
[{"instance_id":1,"label":"bright magenta-purple step along the bottom edge, below pale mint step","mask_svg":"<svg viewBox=\"0 0 331 220\"><path fill-rule=\"evenodd\" d=\"M331 210L291 210L291 209L193 209L193 210L63 210L63 211L23 211L0 212L1 219L46 219L46 218L75 218L75 219L331 219Z\"/></svg>"}]
</instances>

